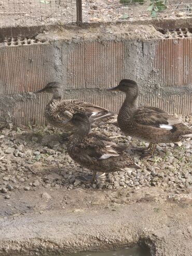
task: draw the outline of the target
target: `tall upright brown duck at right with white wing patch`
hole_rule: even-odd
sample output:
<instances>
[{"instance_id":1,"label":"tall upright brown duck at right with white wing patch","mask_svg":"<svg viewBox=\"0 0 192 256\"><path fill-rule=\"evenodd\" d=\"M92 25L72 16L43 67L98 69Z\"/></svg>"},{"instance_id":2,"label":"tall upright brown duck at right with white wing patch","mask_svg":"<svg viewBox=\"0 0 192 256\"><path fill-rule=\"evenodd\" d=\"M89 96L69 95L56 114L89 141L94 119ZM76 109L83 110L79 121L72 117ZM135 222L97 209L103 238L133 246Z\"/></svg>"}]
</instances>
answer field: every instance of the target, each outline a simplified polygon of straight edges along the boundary
<instances>
[{"instance_id":1,"label":"tall upright brown duck at right with white wing patch","mask_svg":"<svg viewBox=\"0 0 192 256\"><path fill-rule=\"evenodd\" d=\"M192 137L192 129L173 115L153 106L138 106L138 84L131 79L122 79L109 91L122 91L126 98L120 107L117 124L122 132L133 138L149 142L141 149L142 157L154 155L157 143L179 142Z\"/></svg>"}]
</instances>

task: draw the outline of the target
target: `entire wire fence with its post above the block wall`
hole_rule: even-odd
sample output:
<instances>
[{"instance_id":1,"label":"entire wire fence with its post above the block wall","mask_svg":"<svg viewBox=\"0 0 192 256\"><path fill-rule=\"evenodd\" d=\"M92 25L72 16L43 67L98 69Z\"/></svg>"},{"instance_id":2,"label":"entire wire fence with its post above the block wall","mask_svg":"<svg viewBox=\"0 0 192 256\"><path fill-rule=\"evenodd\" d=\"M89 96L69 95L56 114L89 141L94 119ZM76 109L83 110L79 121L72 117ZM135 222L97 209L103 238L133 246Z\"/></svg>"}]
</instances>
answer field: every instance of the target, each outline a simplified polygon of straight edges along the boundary
<instances>
[{"instance_id":1,"label":"entire wire fence with its post above the block wall","mask_svg":"<svg viewBox=\"0 0 192 256\"><path fill-rule=\"evenodd\" d=\"M191 0L1 0L0 26L192 16Z\"/></svg>"}]
</instances>

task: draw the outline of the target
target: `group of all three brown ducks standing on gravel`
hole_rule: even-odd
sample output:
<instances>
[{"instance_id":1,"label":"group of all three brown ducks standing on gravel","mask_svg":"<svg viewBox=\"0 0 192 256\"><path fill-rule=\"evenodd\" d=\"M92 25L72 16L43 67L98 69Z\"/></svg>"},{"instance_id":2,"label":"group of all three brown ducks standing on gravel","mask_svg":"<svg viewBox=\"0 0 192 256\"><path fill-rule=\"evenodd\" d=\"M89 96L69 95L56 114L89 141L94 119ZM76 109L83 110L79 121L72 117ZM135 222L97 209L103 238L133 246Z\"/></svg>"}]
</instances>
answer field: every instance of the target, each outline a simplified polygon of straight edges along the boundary
<instances>
[{"instance_id":1,"label":"group of all three brown ducks standing on gravel","mask_svg":"<svg viewBox=\"0 0 192 256\"><path fill-rule=\"evenodd\" d=\"M126 136L149 142L148 147L136 148L141 158L153 157L157 143L179 142L192 137L192 129L173 115L157 107L139 106L138 85L130 79L122 79L118 86L108 91L126 94L117 117L117 125ZM108 173L140 169L129 155L129 146L118 145L112 138L92 132L93 125L108 122L114 112L88 102L63 100L61 85L51 82L35 93L52 93L46 106L48 123L63 131L67 140L67 153L81 167L92 171L92 176L80 177L80 181L94 183L97 172Z\"/></svg>"}]
</instances>

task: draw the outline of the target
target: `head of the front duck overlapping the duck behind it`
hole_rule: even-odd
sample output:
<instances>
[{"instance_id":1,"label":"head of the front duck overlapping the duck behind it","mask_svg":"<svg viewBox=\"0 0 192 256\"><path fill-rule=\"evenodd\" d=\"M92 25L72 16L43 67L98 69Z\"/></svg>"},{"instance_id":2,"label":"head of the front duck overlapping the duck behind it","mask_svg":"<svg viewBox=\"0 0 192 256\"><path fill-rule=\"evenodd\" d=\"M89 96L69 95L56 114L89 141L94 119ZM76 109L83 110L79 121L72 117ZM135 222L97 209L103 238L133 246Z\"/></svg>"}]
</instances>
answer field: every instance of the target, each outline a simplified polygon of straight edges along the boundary
<instances>
[{"instance_id":1,"label":"head of the front duck overlapping the duck behind it","mask_svg":"<svg viewBox=\"0 0 192 256\"><path fill-rule=\"evenodd\" d=\"M86 113L75 113L70 124L77 128L75 133L81 136L88 135L91 130L91 123Z\"/></svg>"}]
</instances>

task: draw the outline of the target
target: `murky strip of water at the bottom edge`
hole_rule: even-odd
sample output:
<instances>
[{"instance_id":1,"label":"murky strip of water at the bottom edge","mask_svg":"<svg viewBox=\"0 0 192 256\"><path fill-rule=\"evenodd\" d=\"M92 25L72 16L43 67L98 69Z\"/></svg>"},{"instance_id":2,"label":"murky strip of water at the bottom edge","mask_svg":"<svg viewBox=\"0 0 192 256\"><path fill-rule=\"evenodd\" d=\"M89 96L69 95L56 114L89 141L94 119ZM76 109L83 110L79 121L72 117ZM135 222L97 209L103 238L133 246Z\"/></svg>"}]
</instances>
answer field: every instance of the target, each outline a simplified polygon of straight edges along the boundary
<instances>
[{"instance_id":1,"label":"murky strip of water at the bottom edge","mask_svg":"<svg viewBox=\"0 0 192 256\"><path fill-rule=\"evenodd\" d=\"M54 254L52 256L57 256L57 255ZM148 249L137 246L133 248L125 248L125 249L121 249L117 251L109 251L109 252L72 253L72 254L67 254L67 256L151 256L151 254Z\"/></svg>"}]
</instances>

